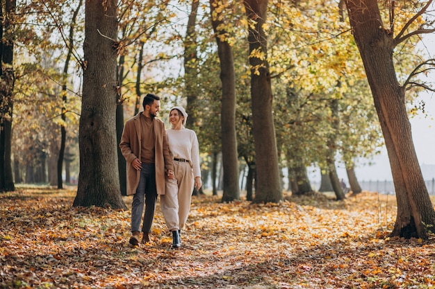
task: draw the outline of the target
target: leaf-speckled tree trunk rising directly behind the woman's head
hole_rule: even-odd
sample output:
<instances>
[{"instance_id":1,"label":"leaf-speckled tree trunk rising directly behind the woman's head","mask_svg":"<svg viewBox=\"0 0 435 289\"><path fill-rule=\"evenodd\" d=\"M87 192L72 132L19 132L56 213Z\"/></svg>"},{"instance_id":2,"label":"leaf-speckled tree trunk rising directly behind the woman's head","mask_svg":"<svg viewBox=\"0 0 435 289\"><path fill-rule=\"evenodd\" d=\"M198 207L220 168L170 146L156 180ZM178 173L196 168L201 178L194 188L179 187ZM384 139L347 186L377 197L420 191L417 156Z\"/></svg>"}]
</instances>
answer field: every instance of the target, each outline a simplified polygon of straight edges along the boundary
<instances>
[{"instance_id":1,"label":"leaf-speckled tree trunk rising directly behind the woman's head","mask_svg":"<svg viewBox=\"0 0 435 289\"><path fill-rule=\"evenodd\" d=\"M192 10L188 19L186 38L184 39L184 83L187 96L187 110L189 112L189 122L192 129L197 127L197 33L195 23L197 21L197 12L199 0L192 0Z\"/></svg>"}]
</instances>

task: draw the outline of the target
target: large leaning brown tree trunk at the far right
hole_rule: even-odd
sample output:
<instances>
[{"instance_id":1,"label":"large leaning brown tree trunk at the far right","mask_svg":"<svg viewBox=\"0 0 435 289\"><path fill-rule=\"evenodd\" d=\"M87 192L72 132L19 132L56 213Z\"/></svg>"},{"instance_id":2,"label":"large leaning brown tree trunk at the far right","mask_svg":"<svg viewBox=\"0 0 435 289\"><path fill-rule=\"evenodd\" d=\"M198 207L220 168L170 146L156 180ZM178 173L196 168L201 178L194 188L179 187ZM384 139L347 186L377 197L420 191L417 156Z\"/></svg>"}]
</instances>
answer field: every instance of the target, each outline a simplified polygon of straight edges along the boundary
<instances>
[{"instance_id":1,"label":"large leaning brown tree trunk at the far right","mask_svg":"<svg viewBox=\"0 0 435 289\"><path fill-rule=\"evenodd\" d=\"M393 174L397 218L391 234L427 238L427 230L435 230L435 211L413 146L405 87L397 81L393 64L393 50L399 42L393 38L393 29L383 27L377 0L346 0L346 6Z\"/></svg>"}]
</instances>

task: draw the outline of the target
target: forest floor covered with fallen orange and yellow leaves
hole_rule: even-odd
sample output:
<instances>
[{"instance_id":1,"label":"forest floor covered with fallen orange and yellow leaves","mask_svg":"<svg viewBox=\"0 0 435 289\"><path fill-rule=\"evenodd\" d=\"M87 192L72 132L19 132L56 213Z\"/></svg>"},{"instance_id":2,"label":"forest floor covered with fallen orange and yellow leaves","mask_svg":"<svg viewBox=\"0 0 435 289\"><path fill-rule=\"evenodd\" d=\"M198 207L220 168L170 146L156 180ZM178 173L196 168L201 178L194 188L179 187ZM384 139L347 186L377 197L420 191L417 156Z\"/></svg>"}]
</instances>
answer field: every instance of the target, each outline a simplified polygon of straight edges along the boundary
<instances>
[{"instance_id":1,"label":"forest floor covered with fallen orange and yellow leaves","mask_svg":"<svg viewBox=\"0 0 435 289\"><path fill-rule=\"evenodd\" d=\"M74 208L75 190L0 194L0 288L435 288L435 237L388 237L393 195L193 197L170 249L160 207L133 247L130 210Z\"/></svg>"}]
</instances>

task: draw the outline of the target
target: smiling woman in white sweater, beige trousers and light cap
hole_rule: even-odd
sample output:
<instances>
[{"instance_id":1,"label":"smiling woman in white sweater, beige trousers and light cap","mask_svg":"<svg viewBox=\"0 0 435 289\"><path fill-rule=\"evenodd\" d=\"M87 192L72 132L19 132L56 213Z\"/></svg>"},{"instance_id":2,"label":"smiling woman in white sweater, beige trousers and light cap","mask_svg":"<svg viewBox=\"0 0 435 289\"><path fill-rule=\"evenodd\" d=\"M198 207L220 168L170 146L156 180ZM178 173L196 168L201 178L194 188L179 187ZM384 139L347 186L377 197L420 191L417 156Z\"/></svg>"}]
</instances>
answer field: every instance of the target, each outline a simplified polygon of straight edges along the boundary
<instances>
[{"instance_id":1,"label":"smiling woman in white sweater, beige trousers and light cap","mask_svg":"<svg viewBox=\"0 0 435 289\"><path fill-rule=\"evenodd\" d=\"M166 130L167 141L174 157L174 175L166 179L166 193L161 195L161 209L167 228L172 231L172 247L181 247L180 232L190 211L193 188L202 186L197 134L185 128L188 114L183 107L172 107Z\"/></svg>"}]
</instances>

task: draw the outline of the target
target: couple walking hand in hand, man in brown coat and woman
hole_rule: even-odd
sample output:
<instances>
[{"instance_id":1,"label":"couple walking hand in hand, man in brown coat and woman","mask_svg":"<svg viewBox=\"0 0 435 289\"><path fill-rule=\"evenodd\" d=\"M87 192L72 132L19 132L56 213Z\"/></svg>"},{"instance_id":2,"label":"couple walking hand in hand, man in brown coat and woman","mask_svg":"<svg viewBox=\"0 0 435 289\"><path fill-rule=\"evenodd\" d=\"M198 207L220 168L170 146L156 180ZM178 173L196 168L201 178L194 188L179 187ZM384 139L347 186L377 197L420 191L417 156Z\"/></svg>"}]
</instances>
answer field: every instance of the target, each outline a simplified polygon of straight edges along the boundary
<instances>
[{"instance_id":1,"label":"couple walking hand in hand, man in brown coat and woman","mask_svg":"<svg viewBox=\"0 0 435 289\"><path fill-rule=\"evenodd\" d=\"M188 114L183 107L172 107L172 129L156 119L160 98L147 94L143 112L126 121L120 141L127 166L127 195L131 205L131 245L149 242L149 233L158 195L167 228L172 231L172 247L181 247L181 229L186 224L194 186L202 186L199 144L193 130L184 127ZM140 240L140 222L145 216Z\"/></svg>"}]
</instances>

